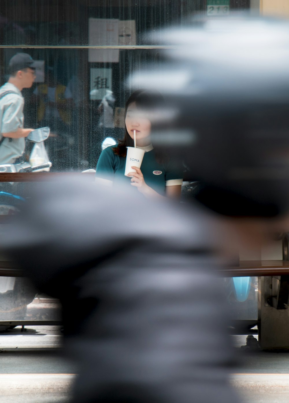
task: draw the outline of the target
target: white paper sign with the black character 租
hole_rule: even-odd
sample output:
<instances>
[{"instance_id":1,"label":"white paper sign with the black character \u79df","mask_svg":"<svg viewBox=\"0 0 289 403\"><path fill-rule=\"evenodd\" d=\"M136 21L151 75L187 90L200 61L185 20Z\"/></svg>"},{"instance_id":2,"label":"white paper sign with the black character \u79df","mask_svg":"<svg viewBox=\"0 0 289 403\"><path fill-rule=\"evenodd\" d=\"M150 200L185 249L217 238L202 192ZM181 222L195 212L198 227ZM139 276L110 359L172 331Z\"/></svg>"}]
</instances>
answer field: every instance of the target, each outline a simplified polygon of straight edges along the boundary
<instances>
[{"instance_id":1,"label":"white paper sign with the black character \u79df","mask_svg":"<svg viewBox=\"0 0 289 403\"><path fill-rule=\"evenodd\" d=\"M111 90L111 69L90 69L90 99L102 100L106 90Z\"/></svg>"}]
</instances>

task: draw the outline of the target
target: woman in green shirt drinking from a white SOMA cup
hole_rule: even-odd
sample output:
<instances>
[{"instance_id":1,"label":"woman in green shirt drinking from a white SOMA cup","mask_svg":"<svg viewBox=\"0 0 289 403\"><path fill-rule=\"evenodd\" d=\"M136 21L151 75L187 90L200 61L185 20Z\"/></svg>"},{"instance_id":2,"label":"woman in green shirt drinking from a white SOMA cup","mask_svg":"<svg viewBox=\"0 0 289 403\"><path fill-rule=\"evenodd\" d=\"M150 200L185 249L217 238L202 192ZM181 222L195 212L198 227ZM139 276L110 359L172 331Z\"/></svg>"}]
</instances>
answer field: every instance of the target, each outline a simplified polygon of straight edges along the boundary
<instances>
[{"instance_id":1,"label":"woman in green shirt drinking from a white SOMA cup","mask_svg":"<svg viewBox=\"0 0 289 403\"><path fill-rule=\"evenodd\" d=\"M132 93L126 102L124 112L126 125L124 139L101 152L96 166L97 178L105 179L107 184L121 179L126 180L147 198L180 197L182 169L176 168L165 154L155 152L151 143L151 121L148 111L163 107L164 100L160 94L152 94L146 90ZM143 158L141 161L138 155L142 153L139 152L135 158L130 158L131 172L127 172L124 176L127 147L134 146L143 150ZM130 152L133 153L133 150ZM138 161L139 158L140 163L134 165L133 161Z\"/></svg>"}]
</instances>

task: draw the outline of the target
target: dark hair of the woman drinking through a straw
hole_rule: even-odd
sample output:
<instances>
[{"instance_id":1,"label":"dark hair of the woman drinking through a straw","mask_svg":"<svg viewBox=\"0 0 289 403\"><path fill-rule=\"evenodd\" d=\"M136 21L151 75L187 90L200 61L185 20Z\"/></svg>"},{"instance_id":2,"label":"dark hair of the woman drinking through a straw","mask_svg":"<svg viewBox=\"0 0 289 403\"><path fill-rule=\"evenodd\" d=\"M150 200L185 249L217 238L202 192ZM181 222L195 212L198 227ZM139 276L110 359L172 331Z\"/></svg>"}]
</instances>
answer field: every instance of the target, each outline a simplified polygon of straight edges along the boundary
<instances>
[{"instance_id":1,"label":"dark hair of the woman drinking through a straw","mask_svg":"<svg viewBox=\"0 0 289 403\"><path fill-rule=\"evenodd\" d=\"M136 108L153 111L157 108L164 108L165 100L163 96L158 92L151 92L145 89L138 89L134 91L131 96L126 101L126 107L124 110L124 119L126 118L126 112L128 110L128 106L133 102L136 103ZM125 133L123 139L118 139L118 145L113 148L114 154L117 154L121 157L126 157L126 147L133 147L134 141L128 134L125 125ZM163 160L161 156L159 156L158 160Z\"/></svg>"}]
</instances>

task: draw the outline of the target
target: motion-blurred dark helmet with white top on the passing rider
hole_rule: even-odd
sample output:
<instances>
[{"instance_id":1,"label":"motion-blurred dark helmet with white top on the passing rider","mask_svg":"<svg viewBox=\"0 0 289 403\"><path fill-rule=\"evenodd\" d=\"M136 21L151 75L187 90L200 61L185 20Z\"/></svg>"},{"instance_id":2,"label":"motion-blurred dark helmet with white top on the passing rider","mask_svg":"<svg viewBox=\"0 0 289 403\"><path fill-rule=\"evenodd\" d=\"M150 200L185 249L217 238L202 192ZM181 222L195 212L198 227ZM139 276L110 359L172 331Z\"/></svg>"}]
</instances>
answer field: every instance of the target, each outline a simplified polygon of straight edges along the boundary
<instances>
[{"instance_id":1,"label":"motion-blurred dark helmet with white top on the passing rider","mask_svg":"<svg viewBox=\"0 0 289 403\"><path fill-rule=\"evenodd\" d=\"M186 179L200 182L194 196L220 214L287 214L288 22L198 18L162 37L177 48L130 81L166 98L166 110L148 116L155 149L179 156Z\"/></svg>"}]
</instances>

